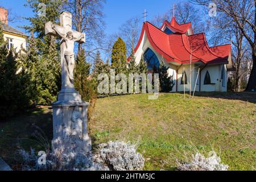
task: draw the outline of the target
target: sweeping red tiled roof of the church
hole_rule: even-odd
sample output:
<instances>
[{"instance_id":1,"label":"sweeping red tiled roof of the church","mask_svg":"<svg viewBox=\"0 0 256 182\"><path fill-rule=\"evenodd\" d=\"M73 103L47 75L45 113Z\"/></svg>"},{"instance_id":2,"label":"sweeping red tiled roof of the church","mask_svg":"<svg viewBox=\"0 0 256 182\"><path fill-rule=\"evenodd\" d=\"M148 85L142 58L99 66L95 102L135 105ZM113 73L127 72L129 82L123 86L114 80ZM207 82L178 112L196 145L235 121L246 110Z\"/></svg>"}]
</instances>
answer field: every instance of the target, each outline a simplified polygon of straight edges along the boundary
<instances>
[{"instance_id":1,"label":"sweeping red tiled roof of the church","mask_svg":"<svg viewBox=\"0 0 256 182\"><path fill-rule=\"evenodd\" d=\"M179 31L168 35L162 31L164 24L172 26L172 28ZM146 32L151 46L166 59L167 63L175 61L176 63L187 64L192 57L192 63L228 64L228 58L231 53L230 44L209 47L204 33L191 36L185 35L185 32L191 28L191 23L180 25L176 22L175 18L173 18L171 23L166 21L164 24L162 28L159 29L149 22L144 23L135 52L137 52L142 43L144 32Z\"/></svg>"}]
</instances>

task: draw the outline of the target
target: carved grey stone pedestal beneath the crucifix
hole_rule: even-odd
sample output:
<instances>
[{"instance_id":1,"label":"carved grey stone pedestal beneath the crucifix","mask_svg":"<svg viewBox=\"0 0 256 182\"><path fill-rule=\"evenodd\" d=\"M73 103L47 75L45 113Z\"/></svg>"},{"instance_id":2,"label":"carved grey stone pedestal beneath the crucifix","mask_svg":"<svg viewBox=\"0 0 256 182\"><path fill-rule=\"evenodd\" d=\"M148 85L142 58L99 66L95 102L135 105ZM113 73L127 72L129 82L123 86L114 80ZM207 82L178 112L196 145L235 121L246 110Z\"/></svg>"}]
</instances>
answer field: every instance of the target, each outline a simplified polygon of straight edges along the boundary
<instances>
[{"instance_id":1,"label":"carved grey stone pedestal beneath the crucifix","mask_svg":"<svg viewBox=\"0 0 256 182\"><path fill-rule=\"evenodd\" d=\"M85 152L91 151L91 139L87 130L88 102L81 101L79 92L60 92L58 101L53 107L53 140L69 143L68 147L79 148ZM65 146L67 147L67 146Z\"/></svg>"}]
</instances>

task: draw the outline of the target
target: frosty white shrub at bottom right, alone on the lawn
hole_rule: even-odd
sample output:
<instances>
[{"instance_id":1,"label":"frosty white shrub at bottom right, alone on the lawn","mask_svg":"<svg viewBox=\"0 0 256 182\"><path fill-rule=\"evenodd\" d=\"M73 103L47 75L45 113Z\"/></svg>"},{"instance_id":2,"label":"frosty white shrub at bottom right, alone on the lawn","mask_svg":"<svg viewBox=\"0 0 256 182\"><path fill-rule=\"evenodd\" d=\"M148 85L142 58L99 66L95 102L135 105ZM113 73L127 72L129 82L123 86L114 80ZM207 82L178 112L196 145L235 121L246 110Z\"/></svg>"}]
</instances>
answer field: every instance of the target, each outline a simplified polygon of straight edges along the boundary
<instances>
[{"instance_id":1,"label":"frosty white shrub at bottom right, alone on the lawn","mask_svg":"<svg viewBox=\"0 0 256 182\"><path fill-rule=\"evenodd\" d=\"M197 152L185 163L178 161L177 168L180 171L227 171L229 166L221 164L220 156L217 156L216 152L208 158Z\"/></svg>"}]
</instances>

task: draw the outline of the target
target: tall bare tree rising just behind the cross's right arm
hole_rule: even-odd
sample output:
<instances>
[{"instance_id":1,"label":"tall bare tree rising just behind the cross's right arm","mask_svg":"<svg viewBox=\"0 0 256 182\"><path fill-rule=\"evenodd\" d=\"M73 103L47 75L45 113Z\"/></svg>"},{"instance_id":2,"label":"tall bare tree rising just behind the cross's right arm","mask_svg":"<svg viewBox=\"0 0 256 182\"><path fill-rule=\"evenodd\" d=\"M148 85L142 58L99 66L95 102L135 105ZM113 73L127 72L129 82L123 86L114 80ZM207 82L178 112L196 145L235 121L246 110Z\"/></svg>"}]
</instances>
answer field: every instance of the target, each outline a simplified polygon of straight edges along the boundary
<instances>
[{"instance_id":1,"label":"tall bare tree rising just behind the cross's right arm","mask_svg":"<svg viewBox=\"0 0 256 182\"><path fill-rule=\"evenodd\" d=\"M73 15L73 26L76 31L86 34L86 53L94 57L96 51L102 47L104 41L104 13L105 0L66 0L65 10ZM78 46L78 53L82 44Z\"/></svg>"}]
</instances>

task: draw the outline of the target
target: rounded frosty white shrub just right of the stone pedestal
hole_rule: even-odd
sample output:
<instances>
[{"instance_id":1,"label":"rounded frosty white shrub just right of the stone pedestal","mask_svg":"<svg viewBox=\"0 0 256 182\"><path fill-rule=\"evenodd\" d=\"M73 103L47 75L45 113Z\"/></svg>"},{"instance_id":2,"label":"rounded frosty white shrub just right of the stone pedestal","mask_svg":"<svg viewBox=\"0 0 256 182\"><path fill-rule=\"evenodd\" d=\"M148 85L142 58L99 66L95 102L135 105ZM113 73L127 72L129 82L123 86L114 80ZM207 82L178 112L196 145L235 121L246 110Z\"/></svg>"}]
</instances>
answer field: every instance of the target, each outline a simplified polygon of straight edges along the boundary
<instances>
[{"instance_id":1,"label":"rounded frosty white shrub just right of the stone pedestal","mask_svg":"<svg viewBox=\"0 0 256 182\"><path fill-rule=\"evenodd\" d=\"M139 171L144 168L144 158L133 144L109 142L101 144L96 160L107 164L114 171Z\"/></svg>"}]
</instances>

